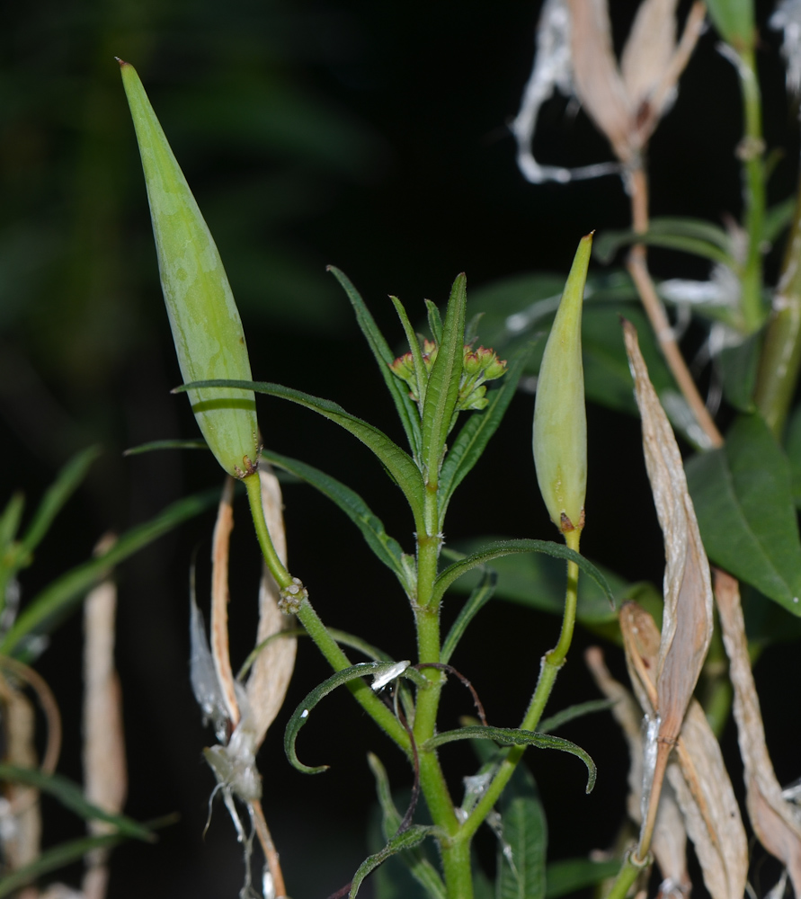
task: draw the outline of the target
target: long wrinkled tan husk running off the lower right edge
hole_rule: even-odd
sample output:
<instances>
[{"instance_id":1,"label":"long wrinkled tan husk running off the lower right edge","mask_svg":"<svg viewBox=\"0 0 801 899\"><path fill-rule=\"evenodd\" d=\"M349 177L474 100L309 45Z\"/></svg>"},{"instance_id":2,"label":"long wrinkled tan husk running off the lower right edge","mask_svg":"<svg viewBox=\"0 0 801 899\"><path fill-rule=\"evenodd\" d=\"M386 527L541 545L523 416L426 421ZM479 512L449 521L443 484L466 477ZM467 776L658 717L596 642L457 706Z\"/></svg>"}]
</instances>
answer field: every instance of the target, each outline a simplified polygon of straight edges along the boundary
<instances>
[{"instance_id":1,"label":"long wrinkled tan husk running off the lower right edge","mask_svg":"<svg viewBox=\"0 0 801 899\"><path fill-rule=\"evenodd\" d=\"M729 657L729 677L734 686L734 718L743 756L745 804L759 841L788 868L793 889L801 896L801 822L782 797L770 761L748 657L740 591L730 574L716 571L715 597Z\"/></svg>"}]
</instances>

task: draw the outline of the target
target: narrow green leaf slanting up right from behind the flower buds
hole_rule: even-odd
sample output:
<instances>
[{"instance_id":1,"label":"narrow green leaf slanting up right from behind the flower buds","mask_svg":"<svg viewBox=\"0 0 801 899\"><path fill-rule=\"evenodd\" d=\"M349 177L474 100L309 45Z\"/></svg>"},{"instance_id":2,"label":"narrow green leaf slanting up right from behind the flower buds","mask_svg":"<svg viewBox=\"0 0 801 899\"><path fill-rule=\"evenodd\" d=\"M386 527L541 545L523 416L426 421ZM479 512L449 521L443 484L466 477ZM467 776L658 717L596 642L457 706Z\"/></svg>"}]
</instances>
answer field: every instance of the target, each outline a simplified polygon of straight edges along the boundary
<instances>
[{"instance_id":1,"label":"narrow green leaf slanting up right from behind the flower buds","mask_svg":"<svg viewBox=\"0 0 801 899\"><path fill-rule=\"evenodd\" d=\"M503 421L503 415L512 402L512 396L517 390L523 369L530 359L533 348L534 343L530 343L515 353L500 386L487 393L486 398L489 400L489 405L481 412L470 414L448 449L440 472L440 529L442 529L450 497L481 458L487 443Z\"/></svg>"}]
</instances>

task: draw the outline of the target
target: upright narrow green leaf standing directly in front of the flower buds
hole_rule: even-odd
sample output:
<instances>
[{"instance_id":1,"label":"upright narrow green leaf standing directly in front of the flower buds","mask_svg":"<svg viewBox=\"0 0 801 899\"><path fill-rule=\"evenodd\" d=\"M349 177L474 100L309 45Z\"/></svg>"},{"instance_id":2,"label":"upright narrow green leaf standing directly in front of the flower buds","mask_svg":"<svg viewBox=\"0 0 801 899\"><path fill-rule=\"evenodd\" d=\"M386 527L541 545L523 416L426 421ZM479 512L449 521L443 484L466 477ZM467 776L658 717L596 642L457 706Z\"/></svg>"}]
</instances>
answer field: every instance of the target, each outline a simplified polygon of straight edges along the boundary
<instances>
[{"instance_id":1,"label":"upright narrow green leaf standing directly in front of the flower buds","mask_svg":"<svg viewBox=\"0 0 801 899\"><path fill-rule=\"evenodd\" d=\"M442 453L453 424L464 367L466 285L463 274L453 282L442 325L442 340L425 391L421 458L426 480L432 485L437 484L440 476Z\"/></svg>"}]
</instances>

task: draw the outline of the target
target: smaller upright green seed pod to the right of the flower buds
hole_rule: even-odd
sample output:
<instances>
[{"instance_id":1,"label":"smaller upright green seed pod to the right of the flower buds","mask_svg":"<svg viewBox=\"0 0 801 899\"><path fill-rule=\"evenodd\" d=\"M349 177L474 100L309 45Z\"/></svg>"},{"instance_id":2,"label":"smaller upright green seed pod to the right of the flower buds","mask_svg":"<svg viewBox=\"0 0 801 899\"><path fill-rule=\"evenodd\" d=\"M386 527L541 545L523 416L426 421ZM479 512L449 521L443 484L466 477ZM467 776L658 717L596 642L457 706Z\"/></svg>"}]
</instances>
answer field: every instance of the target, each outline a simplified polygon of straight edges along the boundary
<instances>
[{"instance_id":1,"label":"smaller upright green seed pod to the right of the flower buds","mask_svg":"<svg viewBox=\"0 0 801 899\"><path fill-rule=\"evenodd\" d=\"M567 276L539 368L534 404L534 465L539 492L556 527L584 524L587 416L582 365L582 301L592 234L583 237Z\"/></svg>"}]
</instances>

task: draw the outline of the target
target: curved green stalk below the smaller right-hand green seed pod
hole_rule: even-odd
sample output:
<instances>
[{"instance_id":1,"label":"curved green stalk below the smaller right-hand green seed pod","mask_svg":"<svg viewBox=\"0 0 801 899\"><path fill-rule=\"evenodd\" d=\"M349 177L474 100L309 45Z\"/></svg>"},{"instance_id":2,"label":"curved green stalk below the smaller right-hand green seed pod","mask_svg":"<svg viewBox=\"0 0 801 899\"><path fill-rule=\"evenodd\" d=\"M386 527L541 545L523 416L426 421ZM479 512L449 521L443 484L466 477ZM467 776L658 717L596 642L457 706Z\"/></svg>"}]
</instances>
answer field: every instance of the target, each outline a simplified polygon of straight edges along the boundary
<instances>
[{"instance_id":1,"label":"curved green stalk below the smaller right-hand green seed pod","mask_svg":"<svg viewBox=\"0 0 801 899\"><path fill-rule=\"evenodd\" d=\"M570 530L565 533L567 546L578 552L580 530ZM537 729L542 713L545 711L547 700L556 683L556 675L565 663L567 651L573 640L575 626L575 609L578 600L578 565L574 562L567 563L567 586L565 589L565 611L562 617L562 630L556 646L542 657L541 668L537 687L531 697L529 708L521 723L521 730L534 731ZM483 797L476 803L476 807L467 817L467 821L459 828L458 840L469 841L484 822L495 803L501 797L503 788L512 778L515 768L521 761L525 746L512 746L506 753L506 758L501 762L495 776Z\"/></svg>"}]
</instances>

